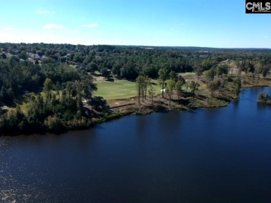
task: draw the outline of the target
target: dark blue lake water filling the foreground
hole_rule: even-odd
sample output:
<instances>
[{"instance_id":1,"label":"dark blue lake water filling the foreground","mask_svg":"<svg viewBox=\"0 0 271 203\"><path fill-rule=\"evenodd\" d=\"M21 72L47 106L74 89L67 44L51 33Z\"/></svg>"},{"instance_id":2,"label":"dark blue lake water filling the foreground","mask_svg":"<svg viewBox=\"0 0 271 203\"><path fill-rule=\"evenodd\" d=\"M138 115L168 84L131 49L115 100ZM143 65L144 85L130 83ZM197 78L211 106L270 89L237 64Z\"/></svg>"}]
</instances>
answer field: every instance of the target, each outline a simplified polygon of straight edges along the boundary
<instances>
[{"instance_id":1,"label":"dark blue lake water filling the foreground","mask_svg":"<svg viewBox=\"0 0 271 203\"><path fill-rule=\"evenodd\" d=\"M271 107L126 116L62 135L0 137L0 202L270 202Z\"/></svg>"}]
</instances>

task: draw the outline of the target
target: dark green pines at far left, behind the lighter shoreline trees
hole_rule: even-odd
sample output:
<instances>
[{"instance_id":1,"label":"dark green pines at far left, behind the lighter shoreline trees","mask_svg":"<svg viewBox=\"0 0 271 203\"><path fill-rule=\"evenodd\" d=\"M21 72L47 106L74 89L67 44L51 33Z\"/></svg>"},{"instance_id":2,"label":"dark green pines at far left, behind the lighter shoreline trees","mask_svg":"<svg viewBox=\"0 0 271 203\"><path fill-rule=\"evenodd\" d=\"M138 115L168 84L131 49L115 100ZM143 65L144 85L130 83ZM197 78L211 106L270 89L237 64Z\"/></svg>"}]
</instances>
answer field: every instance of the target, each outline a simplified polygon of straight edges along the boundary
<instances>
[{"instance_id":1,"label":"dark green pines at far left, behind the lighter shoreline trees","mask_svg":"<svg viewBox=\"0 0 271 203\"><path fill-rule=\"evenodd\" d=\"M46 78L52 80L55 89L61 89L68 81L81 80L81 77L87 75L67 64L51 63L40 66L31 61L19 62L17 57L12 56L9 60L0 60L0 102L13 105L24 92L39 91Z\"/></svg>"}]
</instances>

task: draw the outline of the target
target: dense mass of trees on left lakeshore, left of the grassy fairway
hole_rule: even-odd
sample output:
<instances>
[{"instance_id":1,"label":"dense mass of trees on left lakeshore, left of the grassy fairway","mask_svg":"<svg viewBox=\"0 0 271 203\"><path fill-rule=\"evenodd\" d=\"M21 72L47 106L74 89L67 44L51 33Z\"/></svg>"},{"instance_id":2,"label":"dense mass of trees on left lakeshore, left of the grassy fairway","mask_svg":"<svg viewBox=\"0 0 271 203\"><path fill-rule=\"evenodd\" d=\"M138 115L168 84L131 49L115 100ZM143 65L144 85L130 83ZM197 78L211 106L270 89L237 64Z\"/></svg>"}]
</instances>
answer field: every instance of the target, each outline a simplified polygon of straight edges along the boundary
<instances>
[{"instance_id":1,"label":"dense mass of trees on left lakeshore, left of the grassy fairway","mask_svg":"<svg viewBox=\"0 0 271 203\"><path fill-rule=\"evenodd\" d=\"M60 62L38 65L14 55L0 59L0 88L1 134L87 127L95 114L84 100L108 110L102 98L92 98L97 90L92 76Z\"/></svg>"}]
</instances>

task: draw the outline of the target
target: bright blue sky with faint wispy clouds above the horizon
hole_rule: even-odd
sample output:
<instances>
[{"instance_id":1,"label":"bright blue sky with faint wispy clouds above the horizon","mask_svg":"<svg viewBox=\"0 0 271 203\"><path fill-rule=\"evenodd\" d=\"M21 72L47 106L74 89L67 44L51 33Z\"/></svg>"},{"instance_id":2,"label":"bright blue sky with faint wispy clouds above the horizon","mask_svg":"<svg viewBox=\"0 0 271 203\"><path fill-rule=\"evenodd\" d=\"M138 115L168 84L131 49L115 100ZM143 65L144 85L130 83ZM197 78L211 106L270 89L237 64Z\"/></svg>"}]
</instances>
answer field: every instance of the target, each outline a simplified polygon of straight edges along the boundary
<instances>
[{"instance_id":1,"label":"bright blue sky with faint wispy clouds above the horizon","mask_svg":"<svg viewBox=\"0 0 271 203\"><path fill-rule=\"evenodd\" d=\"M245 0L0 0L0 42L271 48Z\"/></svg>"}]
</instances>

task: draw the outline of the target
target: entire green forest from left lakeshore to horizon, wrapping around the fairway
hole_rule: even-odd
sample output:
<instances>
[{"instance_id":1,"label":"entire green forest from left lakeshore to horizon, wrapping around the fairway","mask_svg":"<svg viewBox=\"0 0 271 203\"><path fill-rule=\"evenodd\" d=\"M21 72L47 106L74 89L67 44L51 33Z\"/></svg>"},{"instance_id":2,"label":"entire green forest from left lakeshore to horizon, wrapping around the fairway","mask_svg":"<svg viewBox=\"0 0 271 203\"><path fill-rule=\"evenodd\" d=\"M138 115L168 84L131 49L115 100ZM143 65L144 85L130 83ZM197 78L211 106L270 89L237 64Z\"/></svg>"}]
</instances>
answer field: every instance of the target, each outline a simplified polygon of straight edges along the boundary
<instances>
[{"instance_id":1,"label":"entire green forest from left lakeshore to horizon, wrapping around the fairway","mask_svg":"<svg viewBox=\"0 0 271 203\"><path fill-rule=\"evenodd\" d=\"M167 85L170 98L173 87L183 91L186 82L178 73L186 72L204 76L213 95L221 86L214 78L229 76L227 61L257 85L270 71L271 55L269 49L1 43L0 134L81 129L112 114L106 100L94 96L97 74L107 81L136 82L138 102L147 94L146 78ZM191 82L190 89L198 87ZM148 92L151 95L151 89Z\"/></svg>"}]
</instances>

